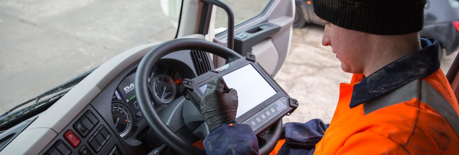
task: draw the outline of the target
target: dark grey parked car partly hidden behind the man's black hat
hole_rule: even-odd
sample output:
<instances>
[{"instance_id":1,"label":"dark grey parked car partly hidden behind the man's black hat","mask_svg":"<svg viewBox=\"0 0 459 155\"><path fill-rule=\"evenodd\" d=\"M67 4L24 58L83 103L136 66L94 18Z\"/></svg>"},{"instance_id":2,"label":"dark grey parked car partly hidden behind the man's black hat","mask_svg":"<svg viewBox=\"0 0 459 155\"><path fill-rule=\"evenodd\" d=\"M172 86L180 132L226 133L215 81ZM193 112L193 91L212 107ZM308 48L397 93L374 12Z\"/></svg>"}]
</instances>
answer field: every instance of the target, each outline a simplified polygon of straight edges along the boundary
<instances>
[{"instance_id":1,"label":"dark grey parked car partly hidden behind the man's black hat","mask_svg":"<svg viewBox=\"0 0 459 155\"><path fill-rule=\"evenodd\" d=\"M313 0L295 0L294 28L306 24L322 25L314 14ZM457 51L459 47L459 0L428 0L424 9L424 28L421 38L437 38L447 54ZM442 55L442 53L440 53Z\"/></svg>"}]
</instances>

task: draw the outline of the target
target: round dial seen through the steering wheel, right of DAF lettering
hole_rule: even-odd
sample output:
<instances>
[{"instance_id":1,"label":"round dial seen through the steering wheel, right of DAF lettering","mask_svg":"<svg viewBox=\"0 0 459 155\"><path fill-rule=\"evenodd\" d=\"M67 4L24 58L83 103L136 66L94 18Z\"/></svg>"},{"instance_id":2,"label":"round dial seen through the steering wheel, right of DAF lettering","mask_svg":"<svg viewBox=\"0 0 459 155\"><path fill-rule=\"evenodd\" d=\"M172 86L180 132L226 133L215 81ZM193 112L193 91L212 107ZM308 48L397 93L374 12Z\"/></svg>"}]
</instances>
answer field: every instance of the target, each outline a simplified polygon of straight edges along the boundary
<instances>
[{"instance_id":1,"label":"round dial seen through the steering wheel, right of DAF lettering","mask_svg":"<svg viewBox=\"0 0 459 155\"><path fill-rule=\"evenodd\" d=\"M153 95L156 100L162 103L170 103L175 97L175 83L172 78L166 74L159 74L152 82Z\"/></svg>"}]
</instances>

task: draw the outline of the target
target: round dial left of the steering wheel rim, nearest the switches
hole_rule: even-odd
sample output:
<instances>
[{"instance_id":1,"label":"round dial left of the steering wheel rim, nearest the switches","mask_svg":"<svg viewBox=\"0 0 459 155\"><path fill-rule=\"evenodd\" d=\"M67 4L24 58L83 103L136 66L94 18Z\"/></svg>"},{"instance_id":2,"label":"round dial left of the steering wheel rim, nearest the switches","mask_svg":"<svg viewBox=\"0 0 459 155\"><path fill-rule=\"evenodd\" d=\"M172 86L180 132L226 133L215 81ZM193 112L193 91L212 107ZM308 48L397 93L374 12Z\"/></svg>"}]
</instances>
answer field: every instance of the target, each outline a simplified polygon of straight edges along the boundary
<instances>
[{"instance_id":1,"label":"round dial left of the steering wheel rim, nearest the switches","mask_svg":"<svg viewBox=\"0 0 459 155\"><path fill-rule=\"evenodd\" d=\"M112 118L119 135L124 138L132 128L132 114L128 107L112 103Z\"/></svg>"}]
</instances>

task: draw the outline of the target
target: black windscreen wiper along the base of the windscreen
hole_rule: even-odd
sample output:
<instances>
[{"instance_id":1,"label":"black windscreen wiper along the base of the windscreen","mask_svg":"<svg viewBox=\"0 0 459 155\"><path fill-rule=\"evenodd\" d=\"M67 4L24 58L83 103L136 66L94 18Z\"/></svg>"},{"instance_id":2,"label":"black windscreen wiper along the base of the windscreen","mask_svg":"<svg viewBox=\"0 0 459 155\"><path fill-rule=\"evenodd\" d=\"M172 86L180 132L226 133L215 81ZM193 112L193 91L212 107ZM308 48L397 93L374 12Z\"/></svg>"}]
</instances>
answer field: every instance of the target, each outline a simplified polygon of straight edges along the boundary
<instances>
[{"instance_id":1,"label":"black windscreen wiper along the base of the windscreen","mask_svg":"<svg viewBox=\"0 0 459 155\"><path fill-rule=\"evenodd\" d=\"M11 108L10 110L6 111L4 114L0 116L0 131L6 130L14 125L16 125L19 122L22 122L26 119L28 119L31 116L35 116L39 114L42 111L45 111L48 109L51 105L56 103L57 100L59 100L62 96L64 96L73 86L81 82L85 77L87 77L91 72L93 72L97 67L94 69L91 69L87 72L84 72L83 74L65 82L62 83L61 85L50 89L46 91L43 94L38 95L37 97L34 97L24 103L21 103L19 105L16 105L15 107ZM44 97L50 96L49 98L46 98L44 100ZM25 108L22 108L20 110L15 111L17 108L22 107L24 105L33 103L32 105L28 105ZM14 112L13 112L14 111ZM11 113L12 112L12 113Z\"/></svg>"}]
</instances>

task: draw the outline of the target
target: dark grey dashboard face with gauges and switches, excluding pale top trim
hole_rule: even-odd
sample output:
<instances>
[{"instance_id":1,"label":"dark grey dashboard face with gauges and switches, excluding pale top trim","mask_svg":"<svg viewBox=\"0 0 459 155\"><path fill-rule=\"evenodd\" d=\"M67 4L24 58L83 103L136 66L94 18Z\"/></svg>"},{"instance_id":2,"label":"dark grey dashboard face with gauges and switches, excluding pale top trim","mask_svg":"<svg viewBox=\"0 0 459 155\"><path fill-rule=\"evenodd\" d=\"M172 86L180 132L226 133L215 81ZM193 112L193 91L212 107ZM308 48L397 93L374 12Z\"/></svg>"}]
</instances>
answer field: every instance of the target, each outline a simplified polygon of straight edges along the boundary
<instances>
[{"instance_id":1,"label":"dark grey dashboard face with gauges and switches, excluding pale top trim","mask_svg":"<svg viewBox=\"0 0 459 155\"><path fill-rule=\"evenodd\" d=\"M169 110L180 106L180 103L174 100L183 98L179 93L182 78L196 76L193 70L194 63L188 62L190 53L190 50L184 50L164 56L151 68L148 85L151 104L155 106L157 113L163 116L163 121L179 122L168 125L193 143L199 138L185 126L182 111ZM193 61L191 59L191 62ZM137 103L134 83L138 65L139 62L134 63L115 77L90 106L70 123L63 134L61 133L63 138L58 136L56 141L50 143L49 148L43 149L41 153L53 155L52 152L55 150L59 150L56 152L60 153L68 152L61 151L58 145L62 145L61 149L66 149L63 146L67 146L71 154L75 155L146 154L160 147L161 140L148 126Z\"/></svg>"}]
</instances>

